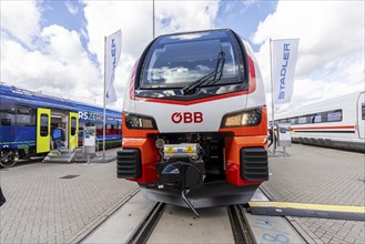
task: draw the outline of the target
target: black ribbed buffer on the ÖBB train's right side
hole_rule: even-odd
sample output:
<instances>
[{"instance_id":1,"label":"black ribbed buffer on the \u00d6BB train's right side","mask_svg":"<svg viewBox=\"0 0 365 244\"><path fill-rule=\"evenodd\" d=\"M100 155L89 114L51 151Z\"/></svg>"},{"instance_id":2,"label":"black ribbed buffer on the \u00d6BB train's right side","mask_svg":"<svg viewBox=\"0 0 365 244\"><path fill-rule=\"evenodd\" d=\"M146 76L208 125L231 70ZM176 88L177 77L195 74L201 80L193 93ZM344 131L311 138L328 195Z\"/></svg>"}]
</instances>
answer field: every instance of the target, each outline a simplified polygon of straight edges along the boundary
<instances>
[{"instance_id":1,"label":"black ribbed buffer on the \u00d6BB train's right side","mask_svg":"<svg viewBox=\"0 0 365 244\"><path fill-rule=\"evenodd\" d=\"M249 181L268 180L267 152L265 149L241 149L241 177Z\"/></svg>"}]
</instances>

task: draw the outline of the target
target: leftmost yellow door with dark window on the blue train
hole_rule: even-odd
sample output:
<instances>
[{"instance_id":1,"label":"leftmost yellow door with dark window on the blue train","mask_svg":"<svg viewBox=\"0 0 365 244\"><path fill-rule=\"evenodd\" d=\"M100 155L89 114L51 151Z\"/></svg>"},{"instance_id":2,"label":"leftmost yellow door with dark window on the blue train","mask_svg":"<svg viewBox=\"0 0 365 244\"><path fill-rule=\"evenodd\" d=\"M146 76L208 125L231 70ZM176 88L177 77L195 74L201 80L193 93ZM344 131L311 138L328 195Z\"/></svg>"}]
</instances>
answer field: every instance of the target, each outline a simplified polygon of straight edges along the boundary
<instances>
[{"instance_id":1,"label":"leftmost yellow door with dark window on the blue train","mask_svg":"<svg viewBox=\"0 0 365 244\"><path fill-rule=\"evenodd\" d=\"M50 151L51 141L51 110L37 110L37 153Z\"/></svg>"}]
</instances>

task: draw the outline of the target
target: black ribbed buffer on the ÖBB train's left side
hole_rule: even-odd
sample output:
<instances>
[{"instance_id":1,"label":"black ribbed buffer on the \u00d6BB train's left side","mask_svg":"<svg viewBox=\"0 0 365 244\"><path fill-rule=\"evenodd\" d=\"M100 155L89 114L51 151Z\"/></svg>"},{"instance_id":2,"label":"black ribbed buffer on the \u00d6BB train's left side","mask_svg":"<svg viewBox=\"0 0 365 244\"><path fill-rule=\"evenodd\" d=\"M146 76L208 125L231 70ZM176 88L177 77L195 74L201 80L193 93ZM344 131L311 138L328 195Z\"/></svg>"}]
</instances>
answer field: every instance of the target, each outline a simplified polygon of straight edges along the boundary
<instances>
[{"instance_id":1,"label":"black ribbed buffer on the \u00d6BB train's left side","mask_svg":"<svg viewBox=\"0 0 365 244\"><path fill-rule=\"evenodd\" d=\"M141 177L141 152L138 149L122 149L116 152L116 176Z\"/></svg>"}]
</instances>

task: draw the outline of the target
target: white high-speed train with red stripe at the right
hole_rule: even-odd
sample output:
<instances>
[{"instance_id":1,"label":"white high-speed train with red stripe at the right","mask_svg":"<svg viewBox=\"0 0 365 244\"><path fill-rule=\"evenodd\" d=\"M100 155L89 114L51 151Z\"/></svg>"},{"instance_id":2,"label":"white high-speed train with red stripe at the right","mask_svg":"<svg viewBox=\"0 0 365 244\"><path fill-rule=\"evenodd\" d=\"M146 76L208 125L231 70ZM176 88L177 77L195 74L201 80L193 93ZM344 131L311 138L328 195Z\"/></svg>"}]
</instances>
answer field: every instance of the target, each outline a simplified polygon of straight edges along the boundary
<instances>
[{"instance_id":1,"label":"white high-speed train with red stripe at the right","mask_svg":"<svg viewBox=\"0 0 365 244\"><path fill-rule=\"evenodd\" d=\"M292 141L365 152L365 92L303 105L277 114L292 124Z\"/></svg>"}]
</instances>

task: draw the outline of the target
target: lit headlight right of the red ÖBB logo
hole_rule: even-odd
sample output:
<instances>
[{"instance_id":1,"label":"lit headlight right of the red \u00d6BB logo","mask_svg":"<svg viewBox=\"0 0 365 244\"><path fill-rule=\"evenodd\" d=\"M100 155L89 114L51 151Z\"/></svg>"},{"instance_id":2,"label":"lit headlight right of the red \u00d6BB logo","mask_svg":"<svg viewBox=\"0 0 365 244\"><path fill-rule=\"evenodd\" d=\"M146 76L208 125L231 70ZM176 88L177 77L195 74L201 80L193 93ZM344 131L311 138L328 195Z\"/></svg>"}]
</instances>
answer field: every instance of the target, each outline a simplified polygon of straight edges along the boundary
<instances>
[{"instance_id":1,"label":"lit headlight right of the red \u00d6BB logo","mask_svg":"<svg viewBox=\"0 0 365 244\"><path fill-rule=\"evenodd\" d=\"M227 114L221 128L255 126L261 123L261 108Z\"/></svg>"}]
</instances>

